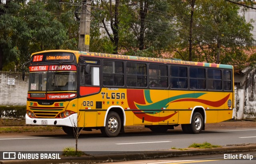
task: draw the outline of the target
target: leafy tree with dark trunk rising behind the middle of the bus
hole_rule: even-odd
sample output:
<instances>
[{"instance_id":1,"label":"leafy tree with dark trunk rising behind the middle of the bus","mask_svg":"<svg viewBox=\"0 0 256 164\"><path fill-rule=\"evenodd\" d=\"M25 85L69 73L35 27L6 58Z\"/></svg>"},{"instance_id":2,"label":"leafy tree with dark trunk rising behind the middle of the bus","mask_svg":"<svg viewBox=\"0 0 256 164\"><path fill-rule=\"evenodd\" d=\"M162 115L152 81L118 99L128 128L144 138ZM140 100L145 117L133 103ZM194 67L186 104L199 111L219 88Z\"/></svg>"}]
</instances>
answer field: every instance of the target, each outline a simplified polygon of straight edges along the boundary
<instances>
[{"instance_id":1,"label":"leafy tree with dark trunk rising behind the middle of the bus","mask_svg":"<svg viewBox=\"0 0 256 164\"><path fill-rule=\"evenodd\" d=\"M126 16L130 23L126 23L129 29L124 33L124 41L120 34L120 46L127 50L127 54L162 57L163 53L169 52L168 46L176 37L173 19L168 13L172 6L159 0L134 0L128 6Z\"/></svg>"}]
</instances>

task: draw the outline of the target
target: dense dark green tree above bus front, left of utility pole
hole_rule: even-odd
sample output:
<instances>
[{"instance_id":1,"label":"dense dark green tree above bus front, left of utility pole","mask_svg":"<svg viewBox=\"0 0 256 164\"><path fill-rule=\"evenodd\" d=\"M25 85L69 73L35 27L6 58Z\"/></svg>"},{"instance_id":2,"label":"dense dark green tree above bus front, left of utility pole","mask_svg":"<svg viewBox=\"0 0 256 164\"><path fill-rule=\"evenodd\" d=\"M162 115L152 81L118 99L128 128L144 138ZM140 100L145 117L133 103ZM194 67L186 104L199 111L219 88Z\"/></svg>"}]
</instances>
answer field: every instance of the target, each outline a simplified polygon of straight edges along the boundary
<instances>
[{"instance_id":1,"label":"dense dark green tree above bus front, left of utility pole","mask_svg":"<svg viewBox=\"0 0 256 164\"><path fill-rule=\"evenodd\" d=\"M54 11L54 10L53 10ZM43 1L30 1L26 21L32 31L30 48L36 51L60 49L68 34L62 22Z\"/></svg>"}]
</instances>

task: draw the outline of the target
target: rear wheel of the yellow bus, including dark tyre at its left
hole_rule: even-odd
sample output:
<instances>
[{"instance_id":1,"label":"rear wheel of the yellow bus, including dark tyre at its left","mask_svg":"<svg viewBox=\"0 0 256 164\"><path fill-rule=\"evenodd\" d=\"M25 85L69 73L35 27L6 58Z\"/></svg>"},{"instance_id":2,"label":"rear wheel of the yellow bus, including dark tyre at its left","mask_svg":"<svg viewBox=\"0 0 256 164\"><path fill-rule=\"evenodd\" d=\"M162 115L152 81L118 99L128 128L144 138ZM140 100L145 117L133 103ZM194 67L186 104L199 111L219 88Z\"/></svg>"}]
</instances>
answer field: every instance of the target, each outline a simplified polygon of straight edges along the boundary
<instances>
[{"instance_id":1,"label":"rear wheel of the yellow bus, including dark tyre at its left","mask_svg":"<svg viewBox=\"0 0 256 164\"><path fill-rule=\"evenodd\" d=\"M198 134L202 131L204 120L202 114L195 112L192 116L191 124L182 124L181 128L184 133Z\"/></svg>"}]
</instances>

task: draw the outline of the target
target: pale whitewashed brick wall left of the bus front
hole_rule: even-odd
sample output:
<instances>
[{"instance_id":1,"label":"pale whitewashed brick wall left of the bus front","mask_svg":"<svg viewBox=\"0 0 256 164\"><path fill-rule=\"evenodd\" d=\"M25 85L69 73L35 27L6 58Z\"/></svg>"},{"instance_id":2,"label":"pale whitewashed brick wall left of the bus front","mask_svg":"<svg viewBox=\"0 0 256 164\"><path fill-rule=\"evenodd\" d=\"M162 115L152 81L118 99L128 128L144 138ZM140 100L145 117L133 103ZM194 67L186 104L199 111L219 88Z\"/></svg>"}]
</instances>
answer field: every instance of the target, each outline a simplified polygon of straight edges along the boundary
<instances>
[{"instance_id":1,"label":"pale whitewashed brick wall left of the bus front","mask_svg":"<svg viewBox=\"0 0 256 164\"><path fill-rule=\"evenodd\" d=\"M14 85L8 85L8 78ZM22 80L21 72L0 71L0 106L25 106L28 93L28 74Z\"/></svg>"}]
</instances>

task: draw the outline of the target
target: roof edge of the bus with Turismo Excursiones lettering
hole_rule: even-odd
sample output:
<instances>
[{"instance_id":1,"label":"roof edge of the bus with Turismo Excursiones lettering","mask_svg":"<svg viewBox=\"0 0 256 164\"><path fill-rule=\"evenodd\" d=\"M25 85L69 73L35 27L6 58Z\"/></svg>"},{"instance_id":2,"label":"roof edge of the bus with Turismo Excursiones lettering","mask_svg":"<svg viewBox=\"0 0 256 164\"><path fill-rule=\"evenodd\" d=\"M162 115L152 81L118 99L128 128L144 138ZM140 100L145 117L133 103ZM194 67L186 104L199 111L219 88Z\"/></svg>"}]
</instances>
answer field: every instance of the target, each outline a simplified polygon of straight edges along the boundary
<instances>
[{"instance_id":1,"label":"roof edge of the bus with Turismo Excursiones lettering","mask_svg":"<svg viewBox=\"0 0 256 164\"><path fill-rule=\"evenodd\" d=\"M148 58L148 57L142 57L142 56L105 54L105 53L83 52L83 51L74 51L74 50L46 50L46 51L33 53L32 55L42 54L42 53L47 53L47 52L71 52L71 53L74 53L75 55L78 55L78 56L91 56L91 57L96 57L96 58L112 58L112 59L123 59L123 60L133 60L133 61L157 62L157 63L179 64L179 65L184 64L184 65L194 65L194 66L202 66L202 67L233 69L233 66L226 65L226 64L191 62L191 61L176 60L176 59Z\"/></svg>"}]
</instances>

